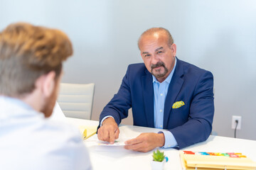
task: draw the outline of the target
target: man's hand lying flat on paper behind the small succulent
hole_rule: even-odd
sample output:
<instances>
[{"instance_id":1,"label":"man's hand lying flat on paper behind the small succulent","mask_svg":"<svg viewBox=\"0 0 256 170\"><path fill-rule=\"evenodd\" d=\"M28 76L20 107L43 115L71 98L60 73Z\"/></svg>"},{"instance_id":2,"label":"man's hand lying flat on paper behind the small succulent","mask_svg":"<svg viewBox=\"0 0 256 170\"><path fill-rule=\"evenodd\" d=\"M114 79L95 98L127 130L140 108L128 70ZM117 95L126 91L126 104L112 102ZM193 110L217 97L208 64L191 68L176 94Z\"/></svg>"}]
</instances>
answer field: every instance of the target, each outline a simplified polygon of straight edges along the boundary
<instances>
[{"instance_id":1,"label":"man's hand lying flat on paper behind the small succulent","mask_svg":"<svg viewBox=\"0 0 256 170\"><path fill-rule=\"evenodd\" d=\"M164 133L142 133L138 137L124 142L124 148L139 152L149 152L156 147L164 146L164 142Z\"/></svg>"}]
</instances>

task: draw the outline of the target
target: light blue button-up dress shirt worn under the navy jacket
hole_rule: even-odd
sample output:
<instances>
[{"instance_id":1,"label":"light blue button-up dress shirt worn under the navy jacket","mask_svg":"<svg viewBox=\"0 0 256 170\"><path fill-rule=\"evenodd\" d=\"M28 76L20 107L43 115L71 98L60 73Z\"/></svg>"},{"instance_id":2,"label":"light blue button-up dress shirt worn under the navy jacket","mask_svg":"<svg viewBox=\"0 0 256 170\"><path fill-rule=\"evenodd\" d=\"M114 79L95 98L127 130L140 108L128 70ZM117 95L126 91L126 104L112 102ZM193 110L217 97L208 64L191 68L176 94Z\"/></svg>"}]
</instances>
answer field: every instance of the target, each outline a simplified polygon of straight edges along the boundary
<instances>
[{"instance_id":1,"label":"light blue button-up dress shirt worn under the navy jacket","mask_svg":"<svg viewBox=\"0 0 256 170\"><path fill-rule=\"evenodd\" d=\"M166 95L169 89L169 84L171 78L174 75L174 70L176 68L176 58L174 69L172 69L169 76L163 81L159 82L156 77L153 77L153 86L154 86L154 127L163 129L164 127L164 103L166 100ZM174 135L170 131L160 131L159 133L164 133L165 144L164 148L167 147L176 147L177 142L174 138Z\"/></svg>"}]
</instances>

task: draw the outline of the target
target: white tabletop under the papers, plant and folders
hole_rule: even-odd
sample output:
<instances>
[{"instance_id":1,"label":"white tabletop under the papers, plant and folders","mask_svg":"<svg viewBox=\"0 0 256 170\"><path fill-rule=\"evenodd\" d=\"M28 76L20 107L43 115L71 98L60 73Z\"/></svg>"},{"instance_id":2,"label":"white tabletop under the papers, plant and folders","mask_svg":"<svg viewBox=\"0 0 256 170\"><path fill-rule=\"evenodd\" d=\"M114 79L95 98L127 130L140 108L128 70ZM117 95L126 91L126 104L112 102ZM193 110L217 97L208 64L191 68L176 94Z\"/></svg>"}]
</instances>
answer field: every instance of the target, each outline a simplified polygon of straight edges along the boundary
<instances>
[{"instance_id":1,"label":"white tabletop under the papers, plant and folders","mask_svg":"<svg viewBox=\"0 0 256 170\"><path fill-rule=\"evenodd\" d=\"M98 125L98 121L94 120L81 120L75 118L68 118L68 122L79 125ZM137 137L141 132L158 132L158 129L144 128L132 125L120 125L120 135L125 133L127 137ZM96 139L96 137L93 137ZM126 150L122 147L112 147L113 149L99 150L97 146L93 145L90 140L85 140L85 145L90 152L90 159L93 169L151 169L151 154L134 152ZM162 149L169 157L169 162L166 163L165 169L181 169L181 162L176 149ZM230 137L220 137L211 135L206 142L201 142L191 147L186 147L183 150L201 151L201 152L241 152L247 157L256 162L256 141L234 139Z\"/></svg>"}]
</instances>

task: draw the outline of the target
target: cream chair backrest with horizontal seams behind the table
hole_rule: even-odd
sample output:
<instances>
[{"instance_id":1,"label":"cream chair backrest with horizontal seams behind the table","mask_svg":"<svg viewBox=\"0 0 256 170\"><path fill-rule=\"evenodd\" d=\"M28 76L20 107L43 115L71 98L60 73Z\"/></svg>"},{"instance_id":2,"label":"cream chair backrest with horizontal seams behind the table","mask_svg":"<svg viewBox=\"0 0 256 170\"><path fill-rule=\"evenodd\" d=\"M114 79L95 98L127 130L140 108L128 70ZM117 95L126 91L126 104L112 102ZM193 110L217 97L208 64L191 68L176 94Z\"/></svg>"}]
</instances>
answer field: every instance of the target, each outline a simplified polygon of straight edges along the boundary
<instances>
[{"instance_id":1,"label":"cream chair backrest with horizontal seams behind the table","mask_svg":"<svg viewBox=\"0 0 256 170\"><path fill-rule=\"evenodd\" d=\"M60 84L58 103L66 117L90 120L95 84Z\"/></svg>"}]
</instances>

